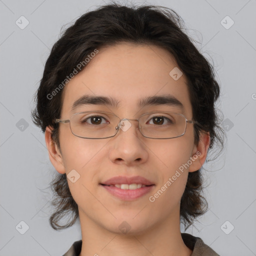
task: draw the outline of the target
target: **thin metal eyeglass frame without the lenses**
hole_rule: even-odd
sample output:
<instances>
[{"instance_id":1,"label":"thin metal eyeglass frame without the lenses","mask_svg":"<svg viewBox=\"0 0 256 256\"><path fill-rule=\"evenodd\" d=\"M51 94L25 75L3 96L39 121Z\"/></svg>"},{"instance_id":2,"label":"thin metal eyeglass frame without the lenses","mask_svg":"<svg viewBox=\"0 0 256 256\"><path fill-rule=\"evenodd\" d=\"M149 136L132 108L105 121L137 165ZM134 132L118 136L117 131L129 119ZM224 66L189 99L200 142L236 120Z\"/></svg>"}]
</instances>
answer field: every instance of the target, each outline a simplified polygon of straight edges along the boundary
<instances>
[{"instance_id":1,"label":"thin metal eyeglass frame without the lenses","mask_svg":"<svg viewBox=\"0 0 256 256\"><path fill-rule=\"evenodd\" d=\"M187 123L198 123L197 121L187 120L186 117L185 117L183 114L175 113L175 112L166 112L166 111L164 111L164 112L155 111L155 112L144 113L144 114L141 114L141 115L138 117L138 119L130 119L130 118L122 118L122 119L120 119L120 117L118 117L117 115L115 115L115 114L113 114L113 113L105 112L105 111L83 111L83 112L78 112L78 113L72 114L72 115L69 117L69 119L56 119L56 120L55 120L55 123L67 123L67 122L69 122L69 128L70 128L72 134L75 135L76 137L80 137L80 138L89 138L89 139L101 139L101 138L90 138L90 137L78 136L78 135L76 135L76 134L73 133L73 131L72 131L72 129L71 129L71 126L70 126L70 119L71 119L71 117L72 117L73 115L75 115L75 114L81 114L81 113L93 113L93 112L112 114L112 115L116 116L116 117L119 119L119 122L118 122L117 126L115 127L115 129L116 129L115 134L112 135L112 136L102 137L102 138L111 138L111 137L115 136L115 135L117 134L119 128L120 128L120 123L121 123L122 120L134 120L134 121L138 121L138 124L139 124L139 119L140 119L140 117L143 116L143 115L146 115L146 114L153 114L153 113L173 113L173 114L182 115L182 116L185 118L185 121L186 121L186 122L185 122L185 130L184 130L184 132L183 132L181 135L178 135L178 136L175 136L175 137L168 137L168 138L177 138L177 137L180 137L180 136L184 135L185 132L186 132L186 124L187 124ZM140 131L140 133L141 133L141 135L142 135L143 137L152 138L152 137L147 137L147 136L143 135L143 133L142 133L141 130L140 130L139 125L138 125L138 129L139 129L139 131ZM168 139L168 138L152 138L152 139Z\"/></svg>"}]
</instances>

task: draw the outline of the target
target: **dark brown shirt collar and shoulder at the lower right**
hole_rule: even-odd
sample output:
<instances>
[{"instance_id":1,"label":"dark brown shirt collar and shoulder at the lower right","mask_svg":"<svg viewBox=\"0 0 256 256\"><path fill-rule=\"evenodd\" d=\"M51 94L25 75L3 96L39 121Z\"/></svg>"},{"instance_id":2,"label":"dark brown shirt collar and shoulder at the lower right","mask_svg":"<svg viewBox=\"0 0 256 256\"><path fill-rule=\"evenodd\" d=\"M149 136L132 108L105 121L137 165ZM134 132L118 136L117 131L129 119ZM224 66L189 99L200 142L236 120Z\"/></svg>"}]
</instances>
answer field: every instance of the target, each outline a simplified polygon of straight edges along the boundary
<instances>
[{"instance_id":1,"label":"dark brown shirt collar and shoulder at the lower right","mask_svg":"<svg viewBox=\"0 0 256 256\"><path fill-rule=\"evenodd\" d=\"M185 245L193 251L190 256L220 256L205 244L200 237L188 233L181 233L181 237Z\"/></svg>"}]
</instances>

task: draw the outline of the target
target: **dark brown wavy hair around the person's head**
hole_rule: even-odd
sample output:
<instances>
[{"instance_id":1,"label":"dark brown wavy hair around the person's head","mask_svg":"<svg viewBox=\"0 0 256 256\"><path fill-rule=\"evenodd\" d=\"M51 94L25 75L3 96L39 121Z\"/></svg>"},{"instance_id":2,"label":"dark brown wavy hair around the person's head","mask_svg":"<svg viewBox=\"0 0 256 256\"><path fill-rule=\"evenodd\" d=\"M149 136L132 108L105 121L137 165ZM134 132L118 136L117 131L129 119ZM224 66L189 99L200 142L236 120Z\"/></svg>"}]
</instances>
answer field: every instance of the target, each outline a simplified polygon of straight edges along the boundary
<instances>
[{"instance_id":1,"label":"dark brown wavy hair around the person's head","mask_svg":"<svg viewBox=\"0 0 256 256\"><path fill-rule=\"evenodd\" d=\"M183 25L183 20L174 10L153 5L123 6L113 2L81 15L64 31L50 51L35 95L36 107L31 113L33 122L43 132L46 126L52 126L51 137L60 149L58 124L54 120L60 118L63 90L52 97L47 95L95 48L100 50L119 42L151 44L168 50L187 78L193 119L199 123L194 124L194 142L198 143L200 132L209 132L209 148L215 143L222 148L223 129L215 107L219 85L212 65L183 31ZM201 169L188 173L180 201L180 221L185 229L207 210L207 202L202 196L202 181ZM50 186L54 193L51 203L56 208L50 216L50 225L56 230L71 226L79 215L66 174L56 172ZM72 218L61 225L59 221L67 212L72 213Z\"/></svg>"}]
</instances>

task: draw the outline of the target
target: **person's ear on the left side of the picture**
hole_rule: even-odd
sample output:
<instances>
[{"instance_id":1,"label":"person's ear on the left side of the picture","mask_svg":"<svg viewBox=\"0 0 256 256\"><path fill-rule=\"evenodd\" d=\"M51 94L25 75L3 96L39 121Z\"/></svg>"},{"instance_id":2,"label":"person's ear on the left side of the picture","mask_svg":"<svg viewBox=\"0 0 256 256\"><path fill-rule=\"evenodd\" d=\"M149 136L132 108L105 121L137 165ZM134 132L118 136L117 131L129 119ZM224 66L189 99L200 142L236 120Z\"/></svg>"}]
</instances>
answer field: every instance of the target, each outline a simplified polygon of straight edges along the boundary
<instances>
[{"instance_id":1,"label":"person's ear on the left side of the picture","mask_svg":"<svg viewBox=\"0 0 256 256\"><path fill-rule=\"evenodd\" d=\"M49 159L57 172L64 174L65 168L62 155L57 144L51 138L52 127L47 126L45 129L45 142L48 149Z\"/></svg>"}]
</instances>

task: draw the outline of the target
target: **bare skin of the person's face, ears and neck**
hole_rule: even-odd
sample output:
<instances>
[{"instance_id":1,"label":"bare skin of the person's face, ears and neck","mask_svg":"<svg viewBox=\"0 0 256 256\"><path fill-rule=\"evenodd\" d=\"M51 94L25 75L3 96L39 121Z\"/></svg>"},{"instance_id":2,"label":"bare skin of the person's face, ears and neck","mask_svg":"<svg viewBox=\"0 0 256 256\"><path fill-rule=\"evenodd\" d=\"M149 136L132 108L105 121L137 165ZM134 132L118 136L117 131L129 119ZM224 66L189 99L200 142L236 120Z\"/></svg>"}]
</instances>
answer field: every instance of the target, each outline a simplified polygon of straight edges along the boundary
<instances>
[{"instance_id":1,"label":"bare skin of the person's face, ears and neck","mask_svg":"<svg viewBox=\"0 0 256 256\"><path fill-rule=\"evenodd\" d=\"M154 45L119 43L99 49L86 67L64 87L61 119L86 110L114 112L120 118L138 118L150 111L174 111L192 119L192 107L184 74L174 80L169 72L177 66L172 55ZM111 96L119 100L118 108L102 105L79 106L72 103L83 94ZM173 95L184 111L174 106L136 107L143 96ZM202 134L194 144L193 124L184 135L171 139L143 137L137 122L130 121L127 131L119 130L111 138L85 139L74 136L69 124L59 124L60 150L45 130L49 159L59 173L75 169L80 178L68 186L78 205L85 255L190 255L180 235L179 205L189 171L203 164L209 135ZM172 177L196 151L200 156L154 201L148 200ZM117 176L141 175L155 186L133 201L120 200L109 194L100 182ZM126 221L130 230L123 234L119 225ZM152 254L151 254L152 253Z\"/></svg>"}]
</instances>

